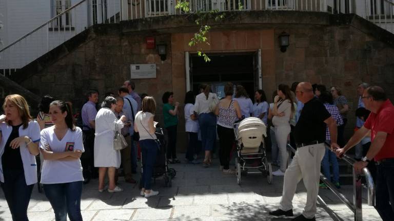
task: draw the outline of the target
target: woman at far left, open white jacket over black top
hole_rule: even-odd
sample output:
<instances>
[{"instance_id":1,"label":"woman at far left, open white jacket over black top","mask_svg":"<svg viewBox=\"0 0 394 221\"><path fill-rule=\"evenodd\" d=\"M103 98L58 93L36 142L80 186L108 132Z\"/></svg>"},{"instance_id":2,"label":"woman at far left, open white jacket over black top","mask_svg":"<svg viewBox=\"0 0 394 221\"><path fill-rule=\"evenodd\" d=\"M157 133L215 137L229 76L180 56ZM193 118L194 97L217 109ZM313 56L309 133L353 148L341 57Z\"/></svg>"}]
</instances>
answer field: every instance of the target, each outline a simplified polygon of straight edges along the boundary
<instances>
[{"instance_id":1,"label":"woman at far left, open white jacket over black top","mask_svg":"<svg viewBox=\"0 0 394 221\"><path fill-rule=\"evenodd\" d=\"M39 153L40 125L32 120L21 95L8 95L0 116L0 186L12 220L29 220L33 186L37 183L35 156ZM1 218L0 218L1 219Z\"/></svg>"}]
</instances>

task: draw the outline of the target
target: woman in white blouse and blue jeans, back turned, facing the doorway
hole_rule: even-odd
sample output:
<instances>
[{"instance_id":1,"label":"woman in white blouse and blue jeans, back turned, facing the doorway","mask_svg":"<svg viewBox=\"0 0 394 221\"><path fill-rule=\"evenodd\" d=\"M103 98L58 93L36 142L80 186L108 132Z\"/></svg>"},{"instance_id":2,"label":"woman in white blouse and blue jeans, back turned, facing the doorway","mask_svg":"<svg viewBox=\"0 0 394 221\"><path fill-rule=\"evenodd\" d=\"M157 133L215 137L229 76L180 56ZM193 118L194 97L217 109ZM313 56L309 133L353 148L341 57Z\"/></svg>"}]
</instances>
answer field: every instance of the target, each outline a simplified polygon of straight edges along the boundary
<instances>
[{"instance_id":1,"label":"woman in white blouse and blue jeans, back turned, facing the doorway","mask_svg":"<svg viewBox=\"0 0 394 221\"><path fill-rule=\"evenodd\" d=\"M194 112L199 116L202 149L205 150L204 167L211 166L211 151L216 141L216 115L213 112L219 104L218 96L210 91L211 85L204 85L194 104Z\"/></svg>"}]
</instances>

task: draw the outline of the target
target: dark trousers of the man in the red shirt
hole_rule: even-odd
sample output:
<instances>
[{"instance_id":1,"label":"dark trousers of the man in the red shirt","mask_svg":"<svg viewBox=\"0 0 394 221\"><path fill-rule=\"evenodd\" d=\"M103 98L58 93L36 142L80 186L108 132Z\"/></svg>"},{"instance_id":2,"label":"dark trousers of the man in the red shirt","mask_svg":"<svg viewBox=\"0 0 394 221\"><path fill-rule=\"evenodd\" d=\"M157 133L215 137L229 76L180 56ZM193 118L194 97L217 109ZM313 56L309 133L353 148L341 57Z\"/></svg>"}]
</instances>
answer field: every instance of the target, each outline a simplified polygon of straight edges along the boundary
<instances>
[{"instance_id":1,"label":"dark trousers of the man in the red shirt","mask_svg":"<svg viewBox=\"0 0 394 221\"><path fill-rule=\"evenodd\" d=\"M375 208L383 221L394 217L394 159L377 165Z\"/></svg>"}]
</instances>

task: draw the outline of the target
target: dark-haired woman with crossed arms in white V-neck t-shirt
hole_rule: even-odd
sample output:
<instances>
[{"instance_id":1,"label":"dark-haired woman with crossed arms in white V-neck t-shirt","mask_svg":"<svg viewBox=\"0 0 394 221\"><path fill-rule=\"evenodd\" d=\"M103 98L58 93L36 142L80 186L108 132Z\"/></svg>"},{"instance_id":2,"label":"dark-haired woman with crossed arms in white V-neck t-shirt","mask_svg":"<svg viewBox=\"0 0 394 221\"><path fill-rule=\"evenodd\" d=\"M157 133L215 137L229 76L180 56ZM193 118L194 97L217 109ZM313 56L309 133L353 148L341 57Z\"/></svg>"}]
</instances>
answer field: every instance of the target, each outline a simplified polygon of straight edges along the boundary
<instances>
[{"instance_id":1,"label":"dark-haired woman with crossed arms in white V-neck t-shirt","mask_svg":"<svg viewBox=\"0 0 394 221\"><path fill-rule=\"evenodd\" d=\"M41 131L40 148L44 156L41 183L52 205L56 221L81 220L84 152L82 130L74 125L70 105L53 101L49 106L53 126Z\"/></svg>"}]
</instances>

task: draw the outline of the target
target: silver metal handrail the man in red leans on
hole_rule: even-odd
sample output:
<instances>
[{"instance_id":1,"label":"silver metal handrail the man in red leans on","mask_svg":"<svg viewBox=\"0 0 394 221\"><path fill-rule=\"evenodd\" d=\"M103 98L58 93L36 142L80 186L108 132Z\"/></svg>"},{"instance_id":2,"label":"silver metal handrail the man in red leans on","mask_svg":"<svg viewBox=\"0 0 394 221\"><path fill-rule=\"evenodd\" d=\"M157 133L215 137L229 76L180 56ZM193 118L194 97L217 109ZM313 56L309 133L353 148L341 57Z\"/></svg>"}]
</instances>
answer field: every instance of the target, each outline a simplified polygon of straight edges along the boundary
<instances>
[{"instance_id":1,"label":"silver metal handrail the man in red leans on","mask_svg":"<svg viewBox=\"0 0 394 221\"><path fill-rule=\"evenodd\" d=\"M330 151L330 146L327 143L324 143L325 147ZM287 149L293 153L295 153L295 149L287 144ZM290 161L290 156L289 159ZM348 157L346 154L343 154L342 160L352 166L353 170L353 203L350 202L345 195L337 190L336 187L324 176L323 173L320 173L320 180L323 181L327 185L327 187L354 213L354 220L361 221L363 220L362 216L362 185L361 185L361 175L356 173L356 170L353 167L353 164L356 162L352 158ZM372 176L367 168L363 168L363 174L365 176L365 180L367 183L368 190L368 206L375 206L375 185L373 184Z\"/></svg>"}]
</instances>

